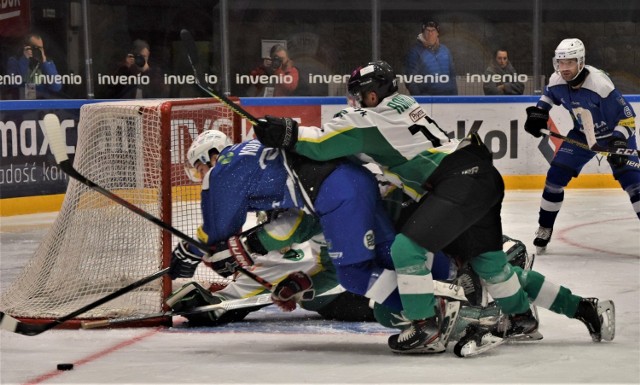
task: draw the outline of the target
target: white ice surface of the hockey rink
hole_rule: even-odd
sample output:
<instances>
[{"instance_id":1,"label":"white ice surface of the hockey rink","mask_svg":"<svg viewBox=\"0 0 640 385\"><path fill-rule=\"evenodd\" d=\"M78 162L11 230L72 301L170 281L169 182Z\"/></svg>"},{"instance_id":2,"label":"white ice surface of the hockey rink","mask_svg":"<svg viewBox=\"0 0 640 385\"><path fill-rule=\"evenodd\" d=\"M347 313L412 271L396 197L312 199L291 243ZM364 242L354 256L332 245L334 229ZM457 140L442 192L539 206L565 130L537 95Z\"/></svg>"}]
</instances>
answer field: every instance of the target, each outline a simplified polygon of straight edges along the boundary
<instances>
[{"instance_id":1,"label":"white ice surface of the hockey rink","mask_svg":"<svg viewBox=\"0 0 640 385\"><path fill-rule=\"evenodd\" d=\"M507 191L505 234L530 253L540 191ZM55 213L0 218L0 283L6 290ZM131 214L135 215L135 214ZM245 322L188 329L0 332L2 384L407 384L640 383L640 222L621 190L567 190L547 254L534 269L582 296L612 299L616 337L593 343L576 320L540 310L536 342L458 358L397 355L394 330L320 320L267 307ZM74 369L58 371L58 363Z\"/></svg>"}]
</instances>

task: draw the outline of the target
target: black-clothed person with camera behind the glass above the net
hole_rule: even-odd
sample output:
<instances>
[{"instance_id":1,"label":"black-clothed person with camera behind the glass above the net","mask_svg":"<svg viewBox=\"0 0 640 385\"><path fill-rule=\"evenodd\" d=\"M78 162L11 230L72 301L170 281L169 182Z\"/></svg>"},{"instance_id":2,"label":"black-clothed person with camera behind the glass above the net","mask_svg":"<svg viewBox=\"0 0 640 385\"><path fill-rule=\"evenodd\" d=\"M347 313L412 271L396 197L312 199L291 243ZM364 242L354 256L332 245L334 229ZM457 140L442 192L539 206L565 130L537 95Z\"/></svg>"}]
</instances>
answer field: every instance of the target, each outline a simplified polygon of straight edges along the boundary
<instances>
[{"instance_id":1,"label":"black-clothed person with camera behind the glass above the net","mask_svg":"<svg viewBox=\"0 0 640 385\"><path fill-rule=\"evenodd\" d=\"M151 50L144 40L134 40L131 49L118 67L116 84L111 86L109 97L114 99L164 98L169 87L164 84L159 66L150 63Z\"/></svg>"}]
</instances>

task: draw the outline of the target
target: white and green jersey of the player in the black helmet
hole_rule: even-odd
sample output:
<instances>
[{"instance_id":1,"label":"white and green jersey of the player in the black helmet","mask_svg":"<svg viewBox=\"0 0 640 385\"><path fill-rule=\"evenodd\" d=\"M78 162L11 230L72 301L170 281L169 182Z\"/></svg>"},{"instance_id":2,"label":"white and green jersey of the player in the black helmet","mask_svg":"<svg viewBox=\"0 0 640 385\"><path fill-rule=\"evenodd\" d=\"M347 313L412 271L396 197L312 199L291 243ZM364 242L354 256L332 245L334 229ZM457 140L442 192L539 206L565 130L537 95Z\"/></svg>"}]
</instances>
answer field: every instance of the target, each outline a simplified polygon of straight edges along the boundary
<instances>
[{"instance_id":1,"label":"white and green jersey of the player in the black helmet","mask_svg":"<svg viewBox=\"0 0 640 385\"><path fill-rule=\"evenodd\" d=\"M442 159L457 147L418 102L394 93L372 108L346 108L322 127L298 127L295 150L315 160L356 156L378 164L413 199Z\"/></svg>"}]
</instances>

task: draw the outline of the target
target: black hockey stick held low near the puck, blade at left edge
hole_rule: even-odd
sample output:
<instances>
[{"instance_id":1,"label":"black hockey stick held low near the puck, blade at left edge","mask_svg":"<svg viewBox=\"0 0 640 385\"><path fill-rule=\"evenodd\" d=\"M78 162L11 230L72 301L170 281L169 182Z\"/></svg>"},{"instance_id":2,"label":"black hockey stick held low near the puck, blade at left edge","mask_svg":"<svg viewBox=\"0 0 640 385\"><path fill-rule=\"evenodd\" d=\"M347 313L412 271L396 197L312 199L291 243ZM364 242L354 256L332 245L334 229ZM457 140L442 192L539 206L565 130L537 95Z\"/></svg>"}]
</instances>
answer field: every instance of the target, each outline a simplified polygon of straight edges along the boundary
<instances>
[{"instance_id":1,"label":"black hockey stick held low near the puck, blade at left edge","mask_svg":"<svg viewBox=\"0 0 640 385\"><path fill-rule=\"evenodd\" d=\"M75 310L65 316L62 316L58 319L55 319L51 322L47 322L47 323L29 323L29 322L23 322L20 321L16 318L11 317L8 314L5 314L4 312L0 312L0 329L3 330L7 330L10 331L12 333L18 333L18 334L23 334L26 336L36 336L40 333L46 332L49 329L53 329L54 327L63 324L66 321L69 321L70 319L73 319L77 316L79 316L80 314L86 313L89 310L95 309L98 306L105 304L117 297L120 297L132 290L135 290L137 288L139 288L140 286L146 285L147 283L154 281L160 277L162 277L163 275L167 274L169 272L169 268L167 267L166 269L160 270L154 274L148 275L138 281L135 281L133 283L131 283L130 285L127 285L123 288L120 288L116 291L114 291L113 293L104 296L102 298L100 298L97 301L91 302L90 304L87 304L83 307L81 307L78 310Z\"/></svg>"}]
</instances>

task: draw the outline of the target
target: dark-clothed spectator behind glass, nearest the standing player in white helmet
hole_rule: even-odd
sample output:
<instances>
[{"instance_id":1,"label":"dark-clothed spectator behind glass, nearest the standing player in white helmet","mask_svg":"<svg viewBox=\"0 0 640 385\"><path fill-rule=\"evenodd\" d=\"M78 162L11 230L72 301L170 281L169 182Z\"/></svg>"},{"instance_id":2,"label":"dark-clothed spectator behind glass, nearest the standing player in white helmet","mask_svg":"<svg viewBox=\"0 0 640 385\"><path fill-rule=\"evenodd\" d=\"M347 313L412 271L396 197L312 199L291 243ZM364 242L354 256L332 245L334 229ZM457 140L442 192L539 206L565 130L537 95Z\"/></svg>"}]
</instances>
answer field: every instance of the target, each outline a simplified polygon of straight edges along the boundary
<instances>
[{"instance_id":1,"label":"dark-clothed spectator behind glass, nearest the standing player in white helmet","mask_svg":"<svg viewBox=\"0 0 640 385\"><path fill-rule=\"evenodd\" d=\"M511 65L506 49L495 51L484 75L489 79L483 86L485 95L522 95L524 92L524 83L517 81L516 69Z\"/></svg>"}]
</instances>

